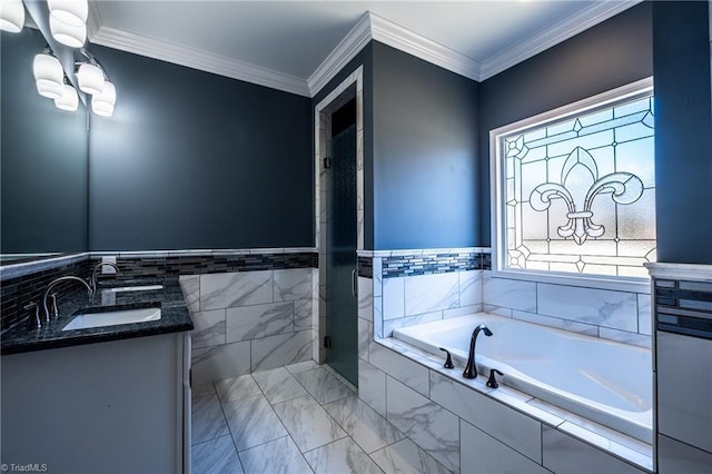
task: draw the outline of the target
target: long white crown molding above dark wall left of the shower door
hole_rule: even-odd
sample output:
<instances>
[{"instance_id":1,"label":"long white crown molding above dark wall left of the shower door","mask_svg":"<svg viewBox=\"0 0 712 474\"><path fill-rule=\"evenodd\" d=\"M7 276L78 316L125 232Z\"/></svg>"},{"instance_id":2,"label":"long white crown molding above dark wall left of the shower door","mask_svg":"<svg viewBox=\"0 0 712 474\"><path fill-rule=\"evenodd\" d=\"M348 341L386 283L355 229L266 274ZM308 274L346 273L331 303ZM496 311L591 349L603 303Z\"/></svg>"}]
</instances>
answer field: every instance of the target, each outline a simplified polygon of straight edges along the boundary
<instances>
[{"instance_id":1,"label":"long white crown molding above dark wall left of the shower door","mask_svg":"<svg viewBox=\"0 0 712 474\"><path fill-rule=\"evenodd\" d=\"M307 81L304 79L144 34L101 26L95 32L91 42L298 96L312 97Z\"/></svg>"}]
</instances>

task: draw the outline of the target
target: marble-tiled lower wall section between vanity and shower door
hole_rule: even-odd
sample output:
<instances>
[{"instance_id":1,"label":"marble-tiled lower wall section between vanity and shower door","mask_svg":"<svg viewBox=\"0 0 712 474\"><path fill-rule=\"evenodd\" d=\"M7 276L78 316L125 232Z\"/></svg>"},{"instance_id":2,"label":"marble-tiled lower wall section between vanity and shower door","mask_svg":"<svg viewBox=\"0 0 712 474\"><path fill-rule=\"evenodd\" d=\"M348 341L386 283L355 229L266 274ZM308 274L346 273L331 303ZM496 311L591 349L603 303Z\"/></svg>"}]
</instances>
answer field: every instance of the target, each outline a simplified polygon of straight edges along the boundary
<instances>
[{"instance_id":1,"label":"marble-tiled lower wall section between vanity and shower door","mask_svg":"<svg viewBox=\"0 0 712 474\"><path fill-rule=\"evenodd\" d=\"M315 268L181 276L195 384L312 359Z\"/></svg>"}]
</instances>

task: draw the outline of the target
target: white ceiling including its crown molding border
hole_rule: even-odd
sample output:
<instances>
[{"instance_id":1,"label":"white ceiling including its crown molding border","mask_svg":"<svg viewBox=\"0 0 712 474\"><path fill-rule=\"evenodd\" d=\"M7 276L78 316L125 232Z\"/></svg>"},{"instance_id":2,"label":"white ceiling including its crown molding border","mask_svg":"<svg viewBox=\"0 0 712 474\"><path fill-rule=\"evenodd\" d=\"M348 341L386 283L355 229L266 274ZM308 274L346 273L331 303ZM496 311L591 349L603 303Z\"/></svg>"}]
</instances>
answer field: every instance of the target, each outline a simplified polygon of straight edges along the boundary
<instances>
[{"instance_id":1,"label":"white ceiling including its crown molding border","mask_svg":"<svg viewBox=\"0 0 712 474\"><path fill-rule=\"evenodd\" d=\"M639 1L101 0L89 40L312 97L372 39L483 80Z\"/></svg>"}]
</instances>

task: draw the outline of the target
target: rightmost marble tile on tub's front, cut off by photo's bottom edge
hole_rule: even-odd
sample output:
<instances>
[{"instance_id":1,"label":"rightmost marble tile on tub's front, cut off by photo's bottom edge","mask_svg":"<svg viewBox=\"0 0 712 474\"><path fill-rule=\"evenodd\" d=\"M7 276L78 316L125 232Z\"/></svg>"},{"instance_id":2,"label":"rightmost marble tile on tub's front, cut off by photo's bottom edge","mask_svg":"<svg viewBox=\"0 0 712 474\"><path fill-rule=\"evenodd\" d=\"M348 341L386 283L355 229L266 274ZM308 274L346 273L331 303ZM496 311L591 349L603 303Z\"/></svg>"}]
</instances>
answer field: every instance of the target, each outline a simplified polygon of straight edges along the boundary
<instances>
[{"instance_id":1,"label":"rightmost marble tile on tub's front, cut off by photo's bottom edge","mask_svg":"<svg viewBox=\"0 0 712 474\"><path fill-rule=\"evenodd\" d=\"M587 444L560 433L546 425L542 427L543 465L555 473L571 474L642 474L643 471L616 460Z\"/></svg>"}]
</instances>

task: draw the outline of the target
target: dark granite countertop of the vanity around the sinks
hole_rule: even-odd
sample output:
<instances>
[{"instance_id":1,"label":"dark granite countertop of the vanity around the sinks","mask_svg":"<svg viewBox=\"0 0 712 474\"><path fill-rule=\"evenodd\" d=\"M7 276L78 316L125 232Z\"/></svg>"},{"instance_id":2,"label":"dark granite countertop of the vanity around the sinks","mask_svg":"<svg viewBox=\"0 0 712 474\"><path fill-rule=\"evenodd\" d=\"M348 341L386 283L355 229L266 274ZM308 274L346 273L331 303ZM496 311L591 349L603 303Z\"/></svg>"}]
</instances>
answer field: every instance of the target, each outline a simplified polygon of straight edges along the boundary
<instances>
[{"instance_id":1,"label":"dark granite countertop of the vanity around the sinks","mask_svg":"<svg viewBox=\"0 0 712 474\"><path fill-rule=\"evenodd\" d=\"M110 290L110 288L117 286L144 285L162 285L164 287L162 289L140 292L113 293ZM129 339L134 337L191 330L194 327L190 312L186 306L186 300L180 290L177 277L103 280L99 283L99 288L93 297L93 302L88 300L87 292L81 288L81 285L76 285L76 292L59 299L59 317L57 320L49 323L49 325L43 325L40 329L28 329L26 324L14 327L2 335L0 353L2 355L19 354L31 350ZM41 307L42 302L38 303ZM117 326L61 330L78 312L98 313L102 309L117 310L139 307L160 307L160 319ZM40 315L42 315L43 318L42 309L40 309Z\"/></svg>"}]
</instances>

